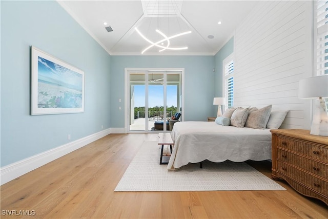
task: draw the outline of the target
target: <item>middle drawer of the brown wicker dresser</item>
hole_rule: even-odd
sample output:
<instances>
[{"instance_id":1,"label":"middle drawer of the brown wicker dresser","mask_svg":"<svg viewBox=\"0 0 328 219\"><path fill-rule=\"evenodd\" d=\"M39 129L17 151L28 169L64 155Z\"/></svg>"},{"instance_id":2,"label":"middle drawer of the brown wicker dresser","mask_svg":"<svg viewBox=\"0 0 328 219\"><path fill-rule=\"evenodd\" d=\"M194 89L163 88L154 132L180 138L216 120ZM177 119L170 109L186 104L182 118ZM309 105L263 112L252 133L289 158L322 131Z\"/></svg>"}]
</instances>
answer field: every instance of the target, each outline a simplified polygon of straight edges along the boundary
<instances>
[{"instance_id":1,"label":"middle drawer of the brown wicker dresser","mask_svg":"<svg viewBox=\"0 0 328 219\"><path fill-rule=\"evenodd\" d=\"M277 159L279 161L297 166L315 175L321 176L322 178L328 178L328 164L316 162L309 158L299 156L282 149L277 150Z\"/></svg>"}]
</instances>

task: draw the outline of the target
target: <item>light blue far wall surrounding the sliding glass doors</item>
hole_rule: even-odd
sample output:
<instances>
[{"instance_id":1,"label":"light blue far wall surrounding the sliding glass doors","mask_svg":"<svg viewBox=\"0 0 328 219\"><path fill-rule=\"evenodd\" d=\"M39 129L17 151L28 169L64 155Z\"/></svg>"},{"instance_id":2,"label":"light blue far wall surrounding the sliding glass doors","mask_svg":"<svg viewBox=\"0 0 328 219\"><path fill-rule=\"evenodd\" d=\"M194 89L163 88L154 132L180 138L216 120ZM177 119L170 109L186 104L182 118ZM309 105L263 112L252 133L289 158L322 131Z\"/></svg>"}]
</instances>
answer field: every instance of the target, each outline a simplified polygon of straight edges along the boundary
<instances>
[{"instance_id":1,"label":"light blue far wall surrounding the sliding glass doors","mask_svg":"<svg viewBox=\"0 0 328 219\"><path fill-rule=\"evenodd\" d=\"M214 113L214 66L214 56L111 56L111 127L124 127L124 68L185 68L185 121L207 121Z\"/></svg>"}]
</instances>

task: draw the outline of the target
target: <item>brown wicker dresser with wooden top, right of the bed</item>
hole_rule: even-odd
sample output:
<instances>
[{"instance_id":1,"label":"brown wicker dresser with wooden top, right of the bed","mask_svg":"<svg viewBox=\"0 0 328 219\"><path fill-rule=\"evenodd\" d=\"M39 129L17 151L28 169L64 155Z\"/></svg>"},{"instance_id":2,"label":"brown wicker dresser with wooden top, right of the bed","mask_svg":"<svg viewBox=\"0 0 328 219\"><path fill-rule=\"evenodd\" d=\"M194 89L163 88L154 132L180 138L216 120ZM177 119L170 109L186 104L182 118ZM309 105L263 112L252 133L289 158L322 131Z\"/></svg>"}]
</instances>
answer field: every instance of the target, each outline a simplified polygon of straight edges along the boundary
<instances>
[{"instance_id":1,"label":"brown wicker dresser with wooden top, right of the bed","mask_svg":"<svg viewBox=\"0 0 328 219\"><path fill-rule=\"evenodd\" d=\"M272 178L328 205L328 137L302 129L272 132Z\"/></svg>"}]
</instances>

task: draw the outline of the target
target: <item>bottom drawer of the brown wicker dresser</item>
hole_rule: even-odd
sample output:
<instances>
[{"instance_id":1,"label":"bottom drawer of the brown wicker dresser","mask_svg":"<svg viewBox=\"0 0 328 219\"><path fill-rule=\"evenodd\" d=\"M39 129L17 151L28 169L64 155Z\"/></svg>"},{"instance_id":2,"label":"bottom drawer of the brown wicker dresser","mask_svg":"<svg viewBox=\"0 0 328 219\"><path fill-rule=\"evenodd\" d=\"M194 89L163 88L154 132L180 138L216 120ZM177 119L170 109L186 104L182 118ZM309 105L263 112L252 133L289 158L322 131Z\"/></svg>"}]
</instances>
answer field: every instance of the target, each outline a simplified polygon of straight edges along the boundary
<instances>
[{"instance_id":1,"label":"bottom drawer of the brown wicker dresser","mask_svg":"<svg viewBox=\"0 0 328 219\"><path fill-rule=\"evenodd\" d=\"M309 173L298 170L288 164L282 163L280 161L277 162L278 171L293 180L313 189L314 191L323 194L328 197L328 182L321 180Z\"/></svg>"}]
</instances>

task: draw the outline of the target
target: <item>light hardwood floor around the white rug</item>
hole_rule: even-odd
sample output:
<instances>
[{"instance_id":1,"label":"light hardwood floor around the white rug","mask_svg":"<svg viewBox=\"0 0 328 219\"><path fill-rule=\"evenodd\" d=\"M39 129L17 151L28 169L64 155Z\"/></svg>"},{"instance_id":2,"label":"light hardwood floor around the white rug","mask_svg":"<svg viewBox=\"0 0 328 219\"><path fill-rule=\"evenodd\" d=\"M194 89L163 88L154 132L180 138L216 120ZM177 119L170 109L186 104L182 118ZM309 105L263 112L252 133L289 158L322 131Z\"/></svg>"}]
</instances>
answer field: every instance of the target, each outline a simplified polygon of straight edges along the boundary
<instances>
[{"instance_id":1,"label":"light hardwood floor around the white rug","mask_svg":"<svg viewBox=\"0 0 328 219\"><path fill-rule=\"evenodd\" d=\"M1 218L328 218L328 206L280 191L114 192L143 141L110 134L1 186ZM159 151L158 151L159 152ZM271 163L249 162L270 177ZM24 210L28 216L5 212Z\"/></svg>"}]
</instances>

